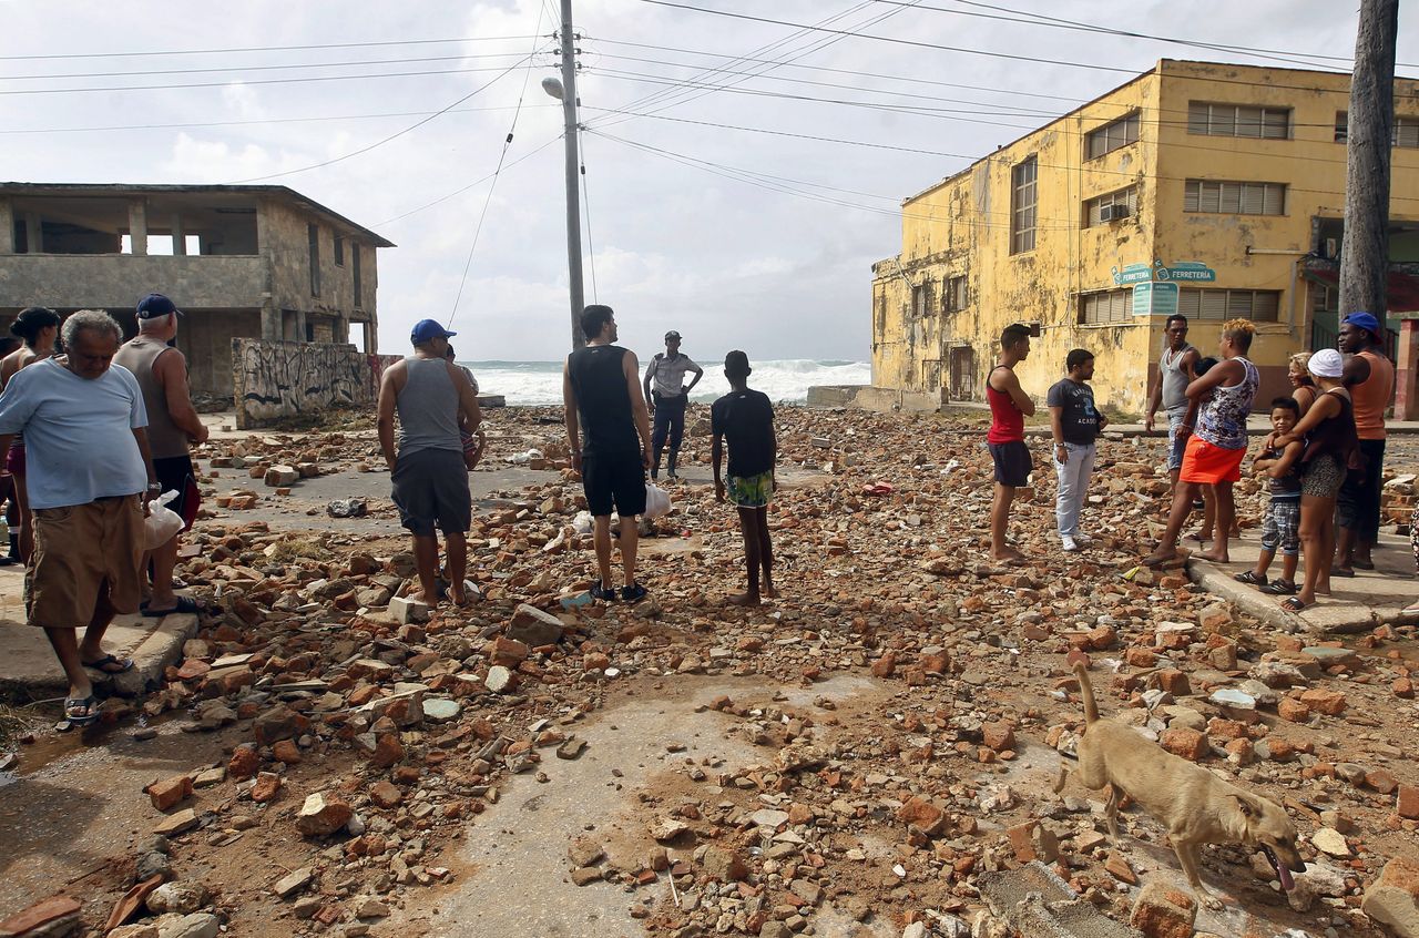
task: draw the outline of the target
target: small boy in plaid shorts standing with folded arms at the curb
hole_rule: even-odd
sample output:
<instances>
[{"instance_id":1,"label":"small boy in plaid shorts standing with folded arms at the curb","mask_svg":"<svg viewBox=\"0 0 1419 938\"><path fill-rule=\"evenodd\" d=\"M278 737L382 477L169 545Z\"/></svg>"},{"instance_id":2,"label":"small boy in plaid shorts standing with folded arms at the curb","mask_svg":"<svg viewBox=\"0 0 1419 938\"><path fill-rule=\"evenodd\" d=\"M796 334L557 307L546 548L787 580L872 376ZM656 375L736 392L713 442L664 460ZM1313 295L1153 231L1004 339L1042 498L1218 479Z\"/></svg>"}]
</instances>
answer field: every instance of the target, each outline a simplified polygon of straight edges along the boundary
<instances>
[{"instance_id":1,"label":"small boy in plaid shorts standing with folded arms at the curb","mask_svg":"<svg viewBox=\"0 0 1419 938\"><path fill-rule=\"evenodd\" d=\"M1256 559L1256 569L1235 578L1274 596L1296 593L1296 561L1301 549L1300 463L1305 444L1293 440L1277 446L1276 440L1290 433L1300 416L1301 406L1294 397L1277 397L1271 402L1271 434L1261 443L1261 451L1252 464L1257 475L1270 480L1271 488L1271 501L1266 505L1266 519L1261 522L1261 553ZM1281 548L1281 578L1267 582L1266 570L1271 566L1277 546Z\"/></svg>"}]
</instances>

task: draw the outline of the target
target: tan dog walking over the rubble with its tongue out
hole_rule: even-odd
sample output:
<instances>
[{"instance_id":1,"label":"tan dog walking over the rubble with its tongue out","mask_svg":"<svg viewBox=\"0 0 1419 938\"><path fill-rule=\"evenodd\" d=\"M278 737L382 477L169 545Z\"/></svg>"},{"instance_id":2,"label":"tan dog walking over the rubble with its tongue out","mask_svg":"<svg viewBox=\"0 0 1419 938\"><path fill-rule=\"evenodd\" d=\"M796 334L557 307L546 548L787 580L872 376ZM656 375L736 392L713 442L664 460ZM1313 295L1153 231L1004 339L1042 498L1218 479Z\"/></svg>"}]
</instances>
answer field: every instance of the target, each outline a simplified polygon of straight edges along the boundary
<instances>
[{"instance_id":1,"label":"tan dog walking over the rubble with its tongue out","mask_svg":"<svg viewBox=\"0 0 1419 938\"><path fill-rule=\"evenodd\" d=\"M1198 876L1198 851L1206 843L1256 847L1270 860L1281 888L1288 891L1296 885L1291 871L1304 873L1305 863L1296 850L1296 826L1280 805L1161 749L1131 727L1100 719L1088 671L1080 663L1074 674L1084 697L1077 772L1086 788L1108 788L1104 819L1114 846L1118 846L1118 800L1127 795L1168 830L1188 883L1208 908L1222 908L1222 901L1208 893ZM1056 793L1064 789L1067 775L1060 766Z\"/></svg>"}]
</instances>

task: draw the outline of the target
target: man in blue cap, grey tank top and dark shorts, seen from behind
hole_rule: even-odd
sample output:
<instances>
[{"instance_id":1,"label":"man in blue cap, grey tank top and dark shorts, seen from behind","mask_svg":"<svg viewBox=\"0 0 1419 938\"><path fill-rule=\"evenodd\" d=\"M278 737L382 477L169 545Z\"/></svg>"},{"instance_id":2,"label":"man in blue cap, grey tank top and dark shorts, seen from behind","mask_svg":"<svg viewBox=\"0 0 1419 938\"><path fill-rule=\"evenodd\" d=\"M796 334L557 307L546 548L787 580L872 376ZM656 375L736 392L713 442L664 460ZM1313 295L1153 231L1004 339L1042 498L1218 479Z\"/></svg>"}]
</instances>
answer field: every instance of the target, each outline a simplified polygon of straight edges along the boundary
<instances>
[{"instance_id":1,"label":"man in blue cap, grey tank top and dark shorts, seen from behind","mask_svg":"<svg viewBox=\"0 0 1419 938\"><path fill-rule=\"evenodd\" d=\"M460 419L461 427L477 433L481 416L468 375L446 358L454 335L433 319L420 319L409 335L414 353L390 365L379 382L379 448L389 465L399 521L414 538L420 590L409 599L430 606L438 602L436 529L443 531L448 555L448 596L458 606L468 602L463 582L473 495Z\"/></svg>"}]
</instances>

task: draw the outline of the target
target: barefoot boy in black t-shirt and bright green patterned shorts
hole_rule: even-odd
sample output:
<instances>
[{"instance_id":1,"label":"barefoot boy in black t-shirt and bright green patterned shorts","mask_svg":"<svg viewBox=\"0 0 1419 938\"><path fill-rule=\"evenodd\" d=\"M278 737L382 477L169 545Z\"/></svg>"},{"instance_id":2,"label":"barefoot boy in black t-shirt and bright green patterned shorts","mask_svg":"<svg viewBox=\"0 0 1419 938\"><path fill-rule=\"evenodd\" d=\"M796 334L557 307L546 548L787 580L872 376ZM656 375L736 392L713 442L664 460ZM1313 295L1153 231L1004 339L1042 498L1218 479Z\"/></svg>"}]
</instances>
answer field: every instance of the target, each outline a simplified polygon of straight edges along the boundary
<instances>
[{"instance_id":1,"label":"barefoot boy in black t-shirt and bright green patterned shorts","mask_svg":"<svg viewBox=\"0 0 1419 938\"><path fill-rule=\"evenodd\" d=\"M769 542L769 501L773 498L773 463L779 441L773 434L773 404L766 394L749 390L749 356L729 352L724 356L724 376L729 393L710 409L710 429L714 433L711 458L714 461L715 501L725 497L739 509L739 531L744 534L744 563L749 575L749 589L729 602L738 606L759 605L759 570L763 572L763 595L778 596L773 589L773 546ZM719 475L724 441L729 441L729 477Z\"/></svg>"}]
</instances>

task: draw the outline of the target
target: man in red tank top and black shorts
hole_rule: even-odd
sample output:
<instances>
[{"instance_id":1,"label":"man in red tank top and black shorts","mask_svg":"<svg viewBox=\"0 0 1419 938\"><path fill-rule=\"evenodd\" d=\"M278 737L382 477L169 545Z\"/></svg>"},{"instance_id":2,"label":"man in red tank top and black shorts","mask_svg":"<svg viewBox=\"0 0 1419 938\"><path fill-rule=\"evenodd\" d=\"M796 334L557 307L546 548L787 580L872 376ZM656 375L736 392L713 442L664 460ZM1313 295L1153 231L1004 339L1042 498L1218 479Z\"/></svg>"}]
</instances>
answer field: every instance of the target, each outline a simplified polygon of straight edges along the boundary
<instances>
[{"instance_id":1,"label":"man in red tank top and black shorts","mask_svg":"<svg viewBox=\"0 0 1419 938\"><path fill-rule=\"evenodd\" d=\"M1016 322L1000 333L1000 358L985 380L985 399L990 404L990 433L986 444L995 460L995 500L990 502L990 556L1022 565L1025 555L1005 541L1015 490L1030 482L1034 468L1030 448L1025 446L1025 417L1034 413L1034 402L1020 387L1015 366L1030 355L1030 328Z\"/></svg>"}]
</instances>

